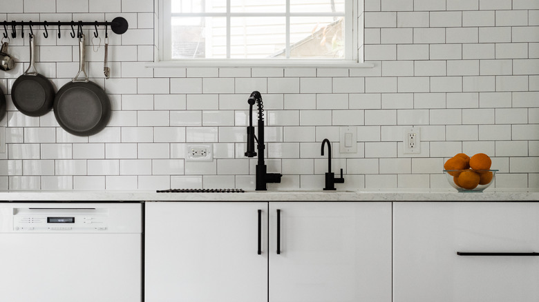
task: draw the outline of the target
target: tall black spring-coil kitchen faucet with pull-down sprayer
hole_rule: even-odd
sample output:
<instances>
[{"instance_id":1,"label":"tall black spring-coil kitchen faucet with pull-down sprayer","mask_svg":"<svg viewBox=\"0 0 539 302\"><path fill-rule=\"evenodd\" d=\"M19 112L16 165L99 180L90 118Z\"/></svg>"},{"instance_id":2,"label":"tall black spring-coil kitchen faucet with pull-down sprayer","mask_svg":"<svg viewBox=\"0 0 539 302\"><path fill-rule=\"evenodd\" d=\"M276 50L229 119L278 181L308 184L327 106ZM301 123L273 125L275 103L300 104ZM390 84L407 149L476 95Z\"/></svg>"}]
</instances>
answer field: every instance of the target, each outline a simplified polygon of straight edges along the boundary
<instances>
[{"instance_id":1,"label":"tall black spring-coil kitchen faucet with pull-down sprayer","mask_svg":"<svg viewBox=\"0 0 539 302\"><path fill-rule=\"evenodd\" d=\"M281 183L281 173L267 173L267 166L264 163L264 105L260 92L253 91L249 99L249 125L247 126L247 152L246 157L256 157L254 151L254 141L258 149L258 163L256 164L256 190L266 191L267 183ZM253 105L258 105L258 136L254 135L253 126Z\"/></svg>"}]
</instances>

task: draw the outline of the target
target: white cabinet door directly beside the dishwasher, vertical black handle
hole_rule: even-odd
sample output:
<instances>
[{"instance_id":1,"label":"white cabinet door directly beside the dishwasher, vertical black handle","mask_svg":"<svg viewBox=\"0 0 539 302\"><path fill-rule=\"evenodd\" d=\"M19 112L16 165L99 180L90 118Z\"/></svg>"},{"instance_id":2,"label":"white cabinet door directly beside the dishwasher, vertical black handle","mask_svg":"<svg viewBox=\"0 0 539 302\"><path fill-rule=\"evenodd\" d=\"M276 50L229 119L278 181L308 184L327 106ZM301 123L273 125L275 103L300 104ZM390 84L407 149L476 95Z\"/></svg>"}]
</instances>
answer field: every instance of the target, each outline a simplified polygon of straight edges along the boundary
<instances>
[{"instance_id":1,"label":"white cabinet door directly beside the dishwasher, vertical black handle","mask_svg":"<svg viewBox=\"0 0 539 302\"><path fill-rule=\"evenodd\" d=\"M146 302L267 301L267 203L146 203L145 221Z\"/></svg>"}]
</instances>

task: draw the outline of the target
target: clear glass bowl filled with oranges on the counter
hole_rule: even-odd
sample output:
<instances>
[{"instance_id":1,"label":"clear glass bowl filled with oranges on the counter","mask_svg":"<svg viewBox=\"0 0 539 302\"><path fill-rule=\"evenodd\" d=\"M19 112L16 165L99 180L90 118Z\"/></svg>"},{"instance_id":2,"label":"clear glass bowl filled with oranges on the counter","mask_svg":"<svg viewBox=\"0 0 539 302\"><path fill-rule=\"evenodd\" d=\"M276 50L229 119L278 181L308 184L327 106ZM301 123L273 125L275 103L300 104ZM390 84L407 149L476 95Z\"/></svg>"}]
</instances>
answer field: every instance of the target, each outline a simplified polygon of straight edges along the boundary
<instances>
[{"instance_id":1,"label":"clear glass bowl filled with oranges on the counter","mask_svg":"<svg viewBox=\"0 0 539 302\"><path fill-rule=\"evenodd\" d=\"M483 192L493 183L498 170L491 170L491 158L484 153L469 157L456 154L444 163L444 174L449 184L459 192Z\"/></svg>"}]
</instances>

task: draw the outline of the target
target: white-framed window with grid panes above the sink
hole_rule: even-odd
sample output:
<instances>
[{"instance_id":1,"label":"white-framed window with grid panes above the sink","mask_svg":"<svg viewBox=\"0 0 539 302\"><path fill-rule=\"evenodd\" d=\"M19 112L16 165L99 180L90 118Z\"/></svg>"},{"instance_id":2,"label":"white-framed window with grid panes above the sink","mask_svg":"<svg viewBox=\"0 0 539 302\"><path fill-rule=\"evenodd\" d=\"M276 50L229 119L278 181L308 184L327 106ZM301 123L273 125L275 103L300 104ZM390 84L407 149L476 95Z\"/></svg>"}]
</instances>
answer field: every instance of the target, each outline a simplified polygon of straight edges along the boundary
<instances>
[{"instance_id":1,"label":"white-framed window with grid panes above the sink","mask_svg":"<svg viewBox=\"0 0 539 302\"><path fill-rule=\"evenodd\" d=\"M187 66L357 63L357 3L160 0L159 59Z\"/></svg>"}]
</instances>

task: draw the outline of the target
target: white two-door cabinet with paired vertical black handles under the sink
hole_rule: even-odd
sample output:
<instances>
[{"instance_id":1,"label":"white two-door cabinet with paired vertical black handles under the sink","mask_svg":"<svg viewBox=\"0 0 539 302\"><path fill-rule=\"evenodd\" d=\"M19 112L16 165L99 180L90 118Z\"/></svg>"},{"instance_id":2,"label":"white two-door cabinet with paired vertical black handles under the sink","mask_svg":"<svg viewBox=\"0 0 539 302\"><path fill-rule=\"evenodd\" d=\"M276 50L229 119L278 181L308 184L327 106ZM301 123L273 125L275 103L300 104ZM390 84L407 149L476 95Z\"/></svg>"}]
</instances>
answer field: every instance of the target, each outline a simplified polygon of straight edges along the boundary
<instances>
[{"instance_id":1,"label":"white two-door cabinet with paired vertical black handles under the sink","mask_svg":"<svg viewBox=\"0 0 539 302\"><path fill-rule=\"evenodd\" d=\"M145 216L146 302L391 301L391 203L153 202Z\"/></svg>"}]
</instances>

